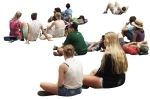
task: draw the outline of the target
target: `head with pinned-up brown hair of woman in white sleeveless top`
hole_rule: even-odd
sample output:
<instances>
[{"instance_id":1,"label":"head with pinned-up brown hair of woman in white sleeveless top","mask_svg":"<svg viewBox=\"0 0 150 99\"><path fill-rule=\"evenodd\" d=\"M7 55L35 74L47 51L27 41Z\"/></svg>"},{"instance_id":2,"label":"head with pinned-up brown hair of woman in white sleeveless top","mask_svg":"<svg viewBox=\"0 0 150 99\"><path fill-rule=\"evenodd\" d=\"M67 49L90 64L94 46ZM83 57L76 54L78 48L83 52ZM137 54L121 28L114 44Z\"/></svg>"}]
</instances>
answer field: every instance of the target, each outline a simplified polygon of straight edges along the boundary
<instances>
[{"instance_id":1,"label":"head with pinned-up brown hair of woman in white sleeveless top","mask_svg":"<svg viewBox=\"0 0 150 99\"><path fill-rule=\"evenodd\" d=\"M75 50L74 47L71 44L65 45L63 48L64 57L70 58L74 56Z\"/></svg>"}]
</instances>

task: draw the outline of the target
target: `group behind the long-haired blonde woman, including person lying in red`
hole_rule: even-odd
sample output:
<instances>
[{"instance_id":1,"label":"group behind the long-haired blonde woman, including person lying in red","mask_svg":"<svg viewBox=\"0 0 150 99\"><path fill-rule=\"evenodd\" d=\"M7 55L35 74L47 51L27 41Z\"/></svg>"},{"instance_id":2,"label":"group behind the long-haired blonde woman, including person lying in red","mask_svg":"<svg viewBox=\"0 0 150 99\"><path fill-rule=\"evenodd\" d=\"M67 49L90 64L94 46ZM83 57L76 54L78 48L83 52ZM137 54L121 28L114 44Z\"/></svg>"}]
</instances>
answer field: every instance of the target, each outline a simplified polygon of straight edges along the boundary
<instances>
[{"instance_id":1,"label":"group behind the long-haired blonde woman, including person lying in red","mask_svg":"<svg viewBox=\"0 0 150 99\"><path fill-rule=\"evenodd\" d=\"M126 37L129 41L124 41ZM104 51L104 35L98 42L87 42L88 51ZM122 28L122 32L118 34L118 39L125 53L131 55L147 55L149 51L148 42L144 41L145 33L143 22L135 16L129 18L129 22Z\"/></svg>"}]
</instances>

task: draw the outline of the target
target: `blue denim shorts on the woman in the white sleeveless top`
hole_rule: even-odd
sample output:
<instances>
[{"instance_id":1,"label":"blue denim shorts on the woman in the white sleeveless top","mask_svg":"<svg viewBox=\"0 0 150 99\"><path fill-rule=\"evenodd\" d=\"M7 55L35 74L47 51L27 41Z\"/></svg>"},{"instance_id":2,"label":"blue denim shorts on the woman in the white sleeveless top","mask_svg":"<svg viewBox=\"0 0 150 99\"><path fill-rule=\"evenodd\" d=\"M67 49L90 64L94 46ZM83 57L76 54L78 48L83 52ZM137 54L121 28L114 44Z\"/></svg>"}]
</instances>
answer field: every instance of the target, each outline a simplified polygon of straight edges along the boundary
<instances>
[{"instance_id":1,"label":"blue denim shorts on the woman in the white sleeveless top","mask_svg":"<svg viewBox=\"0 0 150 99\"><path fill-rule=\"evenodd\" d=\"M58 89L59 96L74 96L74 95L80 94L81 92L82 92L81 87L76 88L76 89L67 89L63 86Z\"/></svg>"}]
</instances>

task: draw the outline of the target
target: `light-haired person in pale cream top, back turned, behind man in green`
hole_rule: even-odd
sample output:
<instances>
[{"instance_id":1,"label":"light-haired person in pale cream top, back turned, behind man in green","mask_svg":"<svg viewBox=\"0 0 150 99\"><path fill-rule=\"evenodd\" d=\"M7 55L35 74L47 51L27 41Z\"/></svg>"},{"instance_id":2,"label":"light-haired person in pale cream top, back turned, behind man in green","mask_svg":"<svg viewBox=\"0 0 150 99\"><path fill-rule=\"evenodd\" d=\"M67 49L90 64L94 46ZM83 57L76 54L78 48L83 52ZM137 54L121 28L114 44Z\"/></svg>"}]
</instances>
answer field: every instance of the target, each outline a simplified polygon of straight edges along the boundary
<instances>
[{"instance_id":1,"label":"light-haired person in pale cream top, back turned, behind man in green","mask_svg":"<svg viewBox=\"0 0 150 99\"><path fill-rule=\"evenodd\" d=\"M56 20L47 27L47 33L53 37L63 37L65 34L65 22L61 19L61 13L56 12L55 18ZM52 29L53 27L54 29Z\"/></svg>"}]
</instances>

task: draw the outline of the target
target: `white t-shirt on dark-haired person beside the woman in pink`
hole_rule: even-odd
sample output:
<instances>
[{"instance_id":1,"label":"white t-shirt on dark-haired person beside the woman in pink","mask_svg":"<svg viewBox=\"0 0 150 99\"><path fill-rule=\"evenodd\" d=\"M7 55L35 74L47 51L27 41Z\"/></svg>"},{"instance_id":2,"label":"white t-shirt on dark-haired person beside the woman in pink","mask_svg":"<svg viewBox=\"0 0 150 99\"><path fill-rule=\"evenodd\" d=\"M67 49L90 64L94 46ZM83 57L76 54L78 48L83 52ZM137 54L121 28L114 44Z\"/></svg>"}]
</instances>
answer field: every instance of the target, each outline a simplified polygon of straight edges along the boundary
<instances>
[{"instance_id":1,"label":"white t-shirt on dark-haired person beside the woman in pink","mask_svg":"<svg viewBox=\"0 0 150 99\"><path fill-rule=\"evenodd\" d=\"M29 26L31 29L31 36L30 36L29 40L35 41L41 32L42 24L38 20L33 20L33 21L29 22Z\"/></svg>"}]
</instances>

